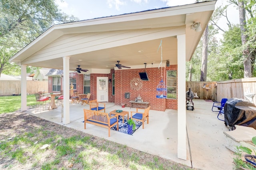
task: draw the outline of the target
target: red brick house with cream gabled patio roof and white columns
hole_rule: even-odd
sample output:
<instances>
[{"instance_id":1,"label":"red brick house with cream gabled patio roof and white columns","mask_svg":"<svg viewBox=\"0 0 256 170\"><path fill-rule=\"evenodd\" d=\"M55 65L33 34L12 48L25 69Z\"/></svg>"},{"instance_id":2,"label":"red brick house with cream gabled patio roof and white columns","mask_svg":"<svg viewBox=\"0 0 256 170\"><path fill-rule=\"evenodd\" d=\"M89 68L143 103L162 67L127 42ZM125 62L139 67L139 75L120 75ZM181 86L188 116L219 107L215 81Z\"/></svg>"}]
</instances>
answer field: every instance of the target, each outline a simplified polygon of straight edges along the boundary
<instances>
[{"instance_id":1,"label":"red brick house with cream gabled patio roof and white columns","mask_svg":"<svg viewBox=\"0 0 256 170\"><path fill-rule=\"evenodd\" d=\"M198 2L53 25L10 62L20 62L24 76L30 65L63 70L64 124L70 123L70 70L78 65L88 71L75 75L76 83L84 83L90 75L91 99L130 105L129 101L140 94L150 102L151 109L178 109L177 152L178 158L186 160L186 61L190 61L215 3ZM117 61L131 68L119 69ZM149 81L140 81L140 72L146 72ZM54 79L53 90L58 91L59 80ZM167 86L167 99L156 98L161 80ZM22 82L25 86L26 81ZM83 87L76 84L79 92ZM25 87L22 96L24 111Z\"/></svg>"}]
</instances>

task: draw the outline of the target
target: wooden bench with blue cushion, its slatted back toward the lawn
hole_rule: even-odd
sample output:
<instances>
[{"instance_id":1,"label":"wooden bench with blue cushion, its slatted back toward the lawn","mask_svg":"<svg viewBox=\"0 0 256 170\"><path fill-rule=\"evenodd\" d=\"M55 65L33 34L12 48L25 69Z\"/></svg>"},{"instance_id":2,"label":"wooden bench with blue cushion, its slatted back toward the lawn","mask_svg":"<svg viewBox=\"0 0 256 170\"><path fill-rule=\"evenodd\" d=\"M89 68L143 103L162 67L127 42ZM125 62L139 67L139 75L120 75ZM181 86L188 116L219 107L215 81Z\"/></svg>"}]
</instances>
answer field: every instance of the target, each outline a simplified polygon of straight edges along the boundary
<instances>
[{"instance_id":1,"label":"wooden bench with blue cushion, its slatted back toward the lawn","mask_svg":"<svg viewBox=\"0 0 256 170\"><path fill-rule=\"evenodd\" d=\"M117 125L118 131L118 115L112 115L110 117L108 113L84 109L84 129L86 129L86 123L108 128L108 137L110 137L110 128L114 125Z\"/></svg>"}]
</instances>

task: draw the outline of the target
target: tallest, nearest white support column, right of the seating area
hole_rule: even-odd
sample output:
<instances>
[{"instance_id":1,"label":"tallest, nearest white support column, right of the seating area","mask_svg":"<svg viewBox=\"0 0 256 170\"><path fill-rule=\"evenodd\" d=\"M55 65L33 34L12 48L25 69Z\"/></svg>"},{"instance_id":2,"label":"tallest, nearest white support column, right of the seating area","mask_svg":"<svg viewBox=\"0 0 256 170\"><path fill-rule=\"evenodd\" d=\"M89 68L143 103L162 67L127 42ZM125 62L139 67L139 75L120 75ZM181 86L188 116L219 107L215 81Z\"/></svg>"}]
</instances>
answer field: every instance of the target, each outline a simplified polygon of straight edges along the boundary
<instances>
[{"instance_id":1,"label":"tallest, nearest white support column, right of the seating area","mask_svg":"<svg viewBox=\"0 0 256 170\"><path fill-rule=\"evenodd\" d=\"M178 39L178 158L187 160L186 149L186 35Z\"/></svg>"}]
</instances>

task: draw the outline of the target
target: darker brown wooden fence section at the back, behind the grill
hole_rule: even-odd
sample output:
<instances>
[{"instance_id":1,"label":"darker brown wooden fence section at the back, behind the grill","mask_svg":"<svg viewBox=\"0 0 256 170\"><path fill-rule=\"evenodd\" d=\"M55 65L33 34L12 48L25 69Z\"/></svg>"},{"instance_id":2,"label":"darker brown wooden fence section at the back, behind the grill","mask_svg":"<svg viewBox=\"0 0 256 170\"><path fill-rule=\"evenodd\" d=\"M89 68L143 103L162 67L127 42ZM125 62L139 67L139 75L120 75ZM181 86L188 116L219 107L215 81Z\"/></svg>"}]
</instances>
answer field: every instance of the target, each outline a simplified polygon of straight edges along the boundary
<instances>
[{"instance_id":1,"label":"darker brown wooden fence section at the back, behind the grill","mask_svg":"<svg viewBox=\"0 0 256 170\"><path fill-rule=\"evenodd\" d=\"M186 82L186 90L197 93L200 99L216 100L217 82Z\"/></svg>"}]
</instances>

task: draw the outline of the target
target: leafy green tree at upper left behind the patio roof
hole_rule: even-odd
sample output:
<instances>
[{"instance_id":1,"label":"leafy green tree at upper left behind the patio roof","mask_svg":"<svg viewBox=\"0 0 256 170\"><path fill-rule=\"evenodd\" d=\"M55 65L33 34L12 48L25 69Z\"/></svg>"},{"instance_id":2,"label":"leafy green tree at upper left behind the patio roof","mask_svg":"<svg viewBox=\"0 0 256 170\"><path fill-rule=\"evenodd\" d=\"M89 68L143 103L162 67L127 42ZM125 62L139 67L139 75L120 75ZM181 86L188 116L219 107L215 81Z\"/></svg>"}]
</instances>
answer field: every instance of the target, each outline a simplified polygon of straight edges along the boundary
<instances>
[{"instance_id":1,"label":"leafy green tree at upper left behind the patio roof","mask_svg":"<svg viewBox=\"0 0 256 170\"><path fill-rule=\"evenodd\" d=\"M59 11L54 0L0 1L0 76L19 68L10 57L50 26L78 20Z\"/></svg>"}]
</instances>

